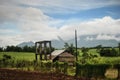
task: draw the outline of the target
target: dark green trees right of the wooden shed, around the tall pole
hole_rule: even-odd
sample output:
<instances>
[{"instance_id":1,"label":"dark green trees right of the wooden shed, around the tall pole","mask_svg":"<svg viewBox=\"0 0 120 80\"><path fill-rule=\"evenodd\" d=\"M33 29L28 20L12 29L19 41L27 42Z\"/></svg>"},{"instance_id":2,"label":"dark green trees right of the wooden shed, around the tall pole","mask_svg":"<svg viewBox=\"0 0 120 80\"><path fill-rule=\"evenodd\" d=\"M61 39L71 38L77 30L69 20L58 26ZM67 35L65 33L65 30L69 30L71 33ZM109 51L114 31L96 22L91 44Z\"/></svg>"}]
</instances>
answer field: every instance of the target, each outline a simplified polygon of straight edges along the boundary
<instances>
[{"instance_id":1,"label":"dark green trees right of the wooden shed, around the tall pole","mask_svg":"<svg viewBox=\"0 0 120 80\"><path fill-rule=\"evenodd\" d=\"M64 47L69 53L76 55L75 47L73 46L73 44L65 43ZM114 48L113 47L103 47L102 45L97 45L96 47L91 47L91 48L82 47L82 48L80 48L81 52L83 53L82 56L83 57L90 56L91 55L89 53L90 49L96 49L96 52L100 56L105 56L105 57L120 56L120 43L118 43L118 46L114 47ZM79 54L79 52L77 52L77 54ZM97 56L97 55L91 55L91 56Z\"/></svg>"}]
</instances>

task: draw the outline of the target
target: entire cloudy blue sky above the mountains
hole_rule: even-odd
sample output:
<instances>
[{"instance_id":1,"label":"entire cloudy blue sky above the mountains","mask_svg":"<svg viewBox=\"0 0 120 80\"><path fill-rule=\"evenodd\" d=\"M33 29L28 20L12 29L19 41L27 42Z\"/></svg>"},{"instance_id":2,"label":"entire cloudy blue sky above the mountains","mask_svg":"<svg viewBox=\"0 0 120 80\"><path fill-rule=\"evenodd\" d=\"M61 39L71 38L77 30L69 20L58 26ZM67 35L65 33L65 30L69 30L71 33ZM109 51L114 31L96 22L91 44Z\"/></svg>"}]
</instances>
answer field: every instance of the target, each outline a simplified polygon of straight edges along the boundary
<instances>
[{"instance_id":1,"label":"entire cloudy blue sky above the mountains","mask_svg":"<svg viewBox=\"0 0 120 80\"><path fill-rule=\"evenodd\" d=\"M27 41L120 41L120 0L0 0L0 46Z\"/></svg>"}]
</instances>

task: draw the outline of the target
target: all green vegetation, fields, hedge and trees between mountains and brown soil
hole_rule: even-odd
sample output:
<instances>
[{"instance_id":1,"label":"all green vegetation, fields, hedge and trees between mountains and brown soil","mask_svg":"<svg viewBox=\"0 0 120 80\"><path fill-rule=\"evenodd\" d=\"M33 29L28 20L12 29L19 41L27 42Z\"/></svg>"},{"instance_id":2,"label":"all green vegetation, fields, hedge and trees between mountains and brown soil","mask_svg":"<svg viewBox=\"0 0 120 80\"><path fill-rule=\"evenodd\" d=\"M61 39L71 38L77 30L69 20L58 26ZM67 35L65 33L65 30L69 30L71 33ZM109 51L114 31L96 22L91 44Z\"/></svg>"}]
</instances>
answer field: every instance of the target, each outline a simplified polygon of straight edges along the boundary
<instances>
[{"instance_id":1,"label":"all green vegetation, fields, hedge and trees between mountains and brown soil","mask_svg":"<svg viewBox=\"0 0 120 80\"><path fill-rule=\"evenodd\" d=\"M75 55L73 44L65 44L68 52ZM22 70L35 70L41 72L57 72L69 75L76 75L81 78L106 79L105 73L108 69L116 69L120 78L120 49L102 47L98 45L94 48L82 47L78 49L78 61L76 66L68 66L68 63L35 61L35 54L30 47L7 46L0 48L0 68L17 68ZM7 52L5 52L7 51ZM12 52L11 52L12 51ZM16 52L15 52L16 51ZM49 51L49 49L48 49ZM76 70L75 70L76 69ZM77 72L75 72L77 71Z\"/></svg>"}]
</instances>

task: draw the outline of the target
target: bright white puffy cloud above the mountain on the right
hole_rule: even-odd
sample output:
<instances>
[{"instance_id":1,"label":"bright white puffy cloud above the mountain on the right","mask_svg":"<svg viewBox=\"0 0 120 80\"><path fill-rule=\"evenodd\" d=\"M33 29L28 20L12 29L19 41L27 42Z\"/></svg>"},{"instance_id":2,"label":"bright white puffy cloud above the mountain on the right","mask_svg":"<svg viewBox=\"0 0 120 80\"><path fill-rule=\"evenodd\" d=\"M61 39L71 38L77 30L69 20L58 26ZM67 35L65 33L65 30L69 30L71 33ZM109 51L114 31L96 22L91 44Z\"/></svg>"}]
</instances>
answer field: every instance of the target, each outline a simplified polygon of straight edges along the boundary
<instances>
[{"instance_id":1,"label":"bright white puffy cloud above the mountain on the right","mask_svg":"<svg viewBox=\"0 0 120 80\"><path fill-rule=\"evenodd\" d=\"M66 25L60 28L60 35L70 39L74 37L74 30L77 30L78 36L98 35L98 34L120 34L120 19L113 19L109 16L80 22L76 25Z\"/></svg>"}]
</instances>

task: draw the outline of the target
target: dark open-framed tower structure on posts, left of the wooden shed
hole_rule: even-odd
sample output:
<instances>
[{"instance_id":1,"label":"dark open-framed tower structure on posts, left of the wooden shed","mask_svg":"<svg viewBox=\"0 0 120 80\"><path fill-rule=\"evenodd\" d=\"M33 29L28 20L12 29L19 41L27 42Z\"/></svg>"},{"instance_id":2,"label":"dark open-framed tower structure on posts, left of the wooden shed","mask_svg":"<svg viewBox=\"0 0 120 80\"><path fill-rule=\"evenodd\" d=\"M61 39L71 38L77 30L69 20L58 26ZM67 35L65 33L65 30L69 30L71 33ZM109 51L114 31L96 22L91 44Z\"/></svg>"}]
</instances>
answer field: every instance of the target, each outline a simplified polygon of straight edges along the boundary
<instances>
[{"instance_id":1,"label":"dark open-framed tower structure on posts, left of the wooden shed","mask_svg":"<svg viewBox=\"0 0 120 80\"><path fill-rule=\"evenodd\" d=\"M49 59L51 59L51 41L38 41L35 42L35 59L38 59L38 55L40 56L40 60L47 60L47 54L50 54ZM44 57L44 58L43 58Z\"/></svg>"}]
</instances>

